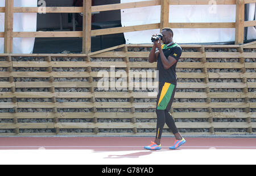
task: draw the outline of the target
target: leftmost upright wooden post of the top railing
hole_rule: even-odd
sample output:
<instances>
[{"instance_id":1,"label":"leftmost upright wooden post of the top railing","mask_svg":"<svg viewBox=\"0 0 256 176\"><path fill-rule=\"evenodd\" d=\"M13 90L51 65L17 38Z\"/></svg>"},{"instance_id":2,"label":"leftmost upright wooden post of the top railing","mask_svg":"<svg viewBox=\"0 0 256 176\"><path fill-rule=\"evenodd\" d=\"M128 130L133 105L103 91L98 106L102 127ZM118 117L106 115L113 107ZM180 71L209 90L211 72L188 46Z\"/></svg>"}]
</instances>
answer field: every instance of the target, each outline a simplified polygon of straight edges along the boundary
<instances>
[{"instance_id":1,"label":"leftmost upright wooden post of the top railing","mask_svg":"<svg viewBox=\"0 0 256 176\"><path fill-rule=\"evenodd\" d=\"M4 53L13 53L14 0L5 0L5 46Z\"/></svg>"}]
</instances>

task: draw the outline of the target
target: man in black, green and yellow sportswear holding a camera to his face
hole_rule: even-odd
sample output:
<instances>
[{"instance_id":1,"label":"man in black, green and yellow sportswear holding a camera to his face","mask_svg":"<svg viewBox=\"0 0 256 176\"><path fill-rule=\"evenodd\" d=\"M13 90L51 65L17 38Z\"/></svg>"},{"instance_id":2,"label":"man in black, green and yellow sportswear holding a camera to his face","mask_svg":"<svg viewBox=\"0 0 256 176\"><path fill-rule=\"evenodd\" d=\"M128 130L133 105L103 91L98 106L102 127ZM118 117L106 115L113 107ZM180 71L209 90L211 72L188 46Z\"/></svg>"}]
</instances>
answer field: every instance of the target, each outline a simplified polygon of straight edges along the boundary
<instances>
[{"instance_id":1,"label":"man in black, green and yellow sportswear holding a camera to his face","mask_svg":"<svg viewBox=\"0 0 256 176\"><path fill-rule=\"evenodd\" d=\"M156 137L154 142L151 141L150 145L144 146L145 149L150 150L161 149L160 139L165 123L173 132L176 139L170 149L176 149L185 143L185 139L177 131L174 119L169 111L174 100L177 84L175 69L182 50L179 45L172 41L174 32L171 28L163 28L161 33L163 35L163 45L160 40L155 41L148 57L148 62L157 62L157 70L159 71L159 91L156 101Z\"/></svg>"}]
</instances>

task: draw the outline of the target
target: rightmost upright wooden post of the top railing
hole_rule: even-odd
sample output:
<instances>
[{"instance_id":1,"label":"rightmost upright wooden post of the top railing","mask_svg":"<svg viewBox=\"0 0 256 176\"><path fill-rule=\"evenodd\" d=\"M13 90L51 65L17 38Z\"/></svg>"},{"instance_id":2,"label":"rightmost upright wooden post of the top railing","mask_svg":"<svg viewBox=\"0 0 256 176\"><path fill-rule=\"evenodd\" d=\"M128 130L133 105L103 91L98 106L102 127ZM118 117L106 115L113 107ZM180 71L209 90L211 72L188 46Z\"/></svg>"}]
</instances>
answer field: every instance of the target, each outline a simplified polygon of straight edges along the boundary
<instances>
[{"instance_id":1,"label":"rightmost upright wooden post of the top railing","mask_svg":"<svg viewBox=\"0 0 256 176\"><path fill-rule=\"evenodd\" d=\"M236 0L236 38L235 44L243 44L244 26L245 21L245 1Z\"/></svg>"}]
</instances>

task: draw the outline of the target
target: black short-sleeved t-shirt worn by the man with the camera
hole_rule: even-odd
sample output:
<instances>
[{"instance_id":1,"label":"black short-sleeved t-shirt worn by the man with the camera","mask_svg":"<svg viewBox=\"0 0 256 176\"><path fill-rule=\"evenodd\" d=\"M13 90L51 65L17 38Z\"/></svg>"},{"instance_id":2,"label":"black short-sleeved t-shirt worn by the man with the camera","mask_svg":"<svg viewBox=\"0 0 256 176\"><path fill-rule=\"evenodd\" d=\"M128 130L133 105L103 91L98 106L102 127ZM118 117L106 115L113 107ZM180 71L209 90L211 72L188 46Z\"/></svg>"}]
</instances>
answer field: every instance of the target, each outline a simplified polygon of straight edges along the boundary
<instances>
[{"instance_id":1,"label":"black short-sleeved t-shirt worn by the man with the camera","mask_svg":"<svg viewBox=\"0 0 256 176\"><path fill-rule=\"evenodd\" d=\"M179 60L180 55L182 53L182 49L179 45L176 43L167 46L167 45L162 45L162 50L166 58L171 55L171 57L174 57L176 61ZM160 54L158 55L158 63L157 63L157 69L159 71L159 82L166 82L166 83L171 83L171 84L177 84L177 76L176 76L176 65L177 62L172 65L168 69L164 69L163 63L160 58Z\"/></svg>"}]
</instances>

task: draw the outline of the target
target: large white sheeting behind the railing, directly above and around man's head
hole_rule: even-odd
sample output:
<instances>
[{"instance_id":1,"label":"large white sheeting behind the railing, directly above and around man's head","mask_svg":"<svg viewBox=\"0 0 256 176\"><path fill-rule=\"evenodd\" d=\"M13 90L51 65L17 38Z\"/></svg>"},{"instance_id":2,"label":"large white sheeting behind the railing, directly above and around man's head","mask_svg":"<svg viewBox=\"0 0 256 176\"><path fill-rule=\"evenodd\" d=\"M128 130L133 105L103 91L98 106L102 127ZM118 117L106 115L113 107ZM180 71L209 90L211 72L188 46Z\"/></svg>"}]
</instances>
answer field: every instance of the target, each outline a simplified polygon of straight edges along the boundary
<instances>
[{"instance_id":1,"label":"large white sheeting behind the railing, directly above and around man's head","mask_svg":"<svg viewBox=\"0 0 256 176\"><path fill-rule=\"evenodd\" d=\"M121 3L141 0L121 0ZM149 0L147 0L149 1ZM236 5L170 5L170 23L234 23ZM121 10L122 26L160 22L160 6ZM174 28L177 43L229 42L235 40L234 28ZM159 29L125 32L126 44L151 43L151 36Z\"/></svg>"}]
</instances>

